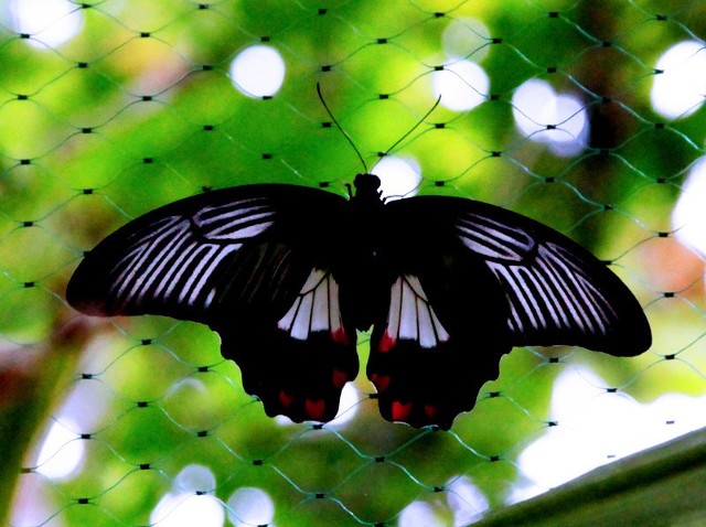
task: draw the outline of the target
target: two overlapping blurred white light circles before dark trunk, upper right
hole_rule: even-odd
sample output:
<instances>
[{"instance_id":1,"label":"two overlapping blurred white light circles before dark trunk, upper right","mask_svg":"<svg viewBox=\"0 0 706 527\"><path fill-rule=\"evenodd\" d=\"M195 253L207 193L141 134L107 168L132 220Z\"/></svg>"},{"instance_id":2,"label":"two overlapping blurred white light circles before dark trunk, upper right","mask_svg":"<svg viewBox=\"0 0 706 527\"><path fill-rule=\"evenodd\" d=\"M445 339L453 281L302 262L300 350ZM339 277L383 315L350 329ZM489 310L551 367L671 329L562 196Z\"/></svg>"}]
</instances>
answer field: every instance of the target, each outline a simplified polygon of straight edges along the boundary
<instances>
[{"instance_id":1,"label":"two overlapping blurred white light circles before dark trunk, upper right","mask_svg":"<svg viewBox=\"0 0 706 527\"><path fill-rule=\"evenodd\" d=\"M588 140L588 116L581 101L557 94L546 80L532 78L513 94L512 112L520 132L557 155L576 155Z\"/></svg>"}]
</instances>

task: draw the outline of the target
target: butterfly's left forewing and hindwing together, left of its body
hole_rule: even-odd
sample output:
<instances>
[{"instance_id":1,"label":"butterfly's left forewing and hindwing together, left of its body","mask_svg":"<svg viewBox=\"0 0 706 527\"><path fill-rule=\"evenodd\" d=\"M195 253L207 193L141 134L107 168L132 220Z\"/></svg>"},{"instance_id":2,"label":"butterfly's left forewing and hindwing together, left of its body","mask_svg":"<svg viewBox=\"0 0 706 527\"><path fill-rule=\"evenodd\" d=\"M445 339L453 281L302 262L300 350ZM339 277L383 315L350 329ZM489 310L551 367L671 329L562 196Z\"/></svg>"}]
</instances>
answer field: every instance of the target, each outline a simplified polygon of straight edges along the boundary
<instances>
[{"instance_id":1,"label":"butterfly's left forewing and hindwing together, left of its body","mask_svg":"<svg viewBox=\"0 0 706 527\"><path fill-rule=\"evenodd\" d=\"M330 420L359 368L355 329L345 323L332 272L341 246L334 225L345 204L291 185L181 200L101 241L76 269L66 298L94 315L208 324L268 415Z\"/></svg>"}]
</instances>

